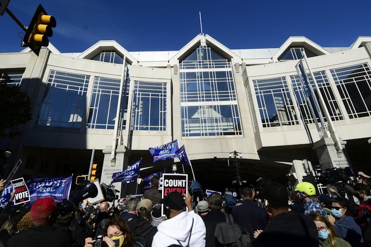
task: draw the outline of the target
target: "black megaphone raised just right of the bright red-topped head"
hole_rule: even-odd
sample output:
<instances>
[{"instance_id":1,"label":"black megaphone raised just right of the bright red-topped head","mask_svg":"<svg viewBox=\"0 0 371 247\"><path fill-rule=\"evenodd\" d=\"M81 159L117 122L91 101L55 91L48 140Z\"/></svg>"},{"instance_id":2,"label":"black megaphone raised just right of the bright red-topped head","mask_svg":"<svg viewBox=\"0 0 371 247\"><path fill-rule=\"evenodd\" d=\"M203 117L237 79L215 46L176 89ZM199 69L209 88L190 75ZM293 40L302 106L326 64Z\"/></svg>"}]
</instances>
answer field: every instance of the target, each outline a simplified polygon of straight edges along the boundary
<instances>
[{"instance_id":1,"label":"black megaphone raised just right of the bright red-topped head","mask_svg":"<svg viewBox=\"0 0 371 247\"><path fill-rule=\"evenodd\" d=\"M85 180L80 187L80 190L72 196L69 200L64 199L62 203L58 204L58 212L61 215L66 215L74 210L78 210L78 205L86 198L93 198L97 196L98 189L93 182Z\"/></svg>"}]
</instances>

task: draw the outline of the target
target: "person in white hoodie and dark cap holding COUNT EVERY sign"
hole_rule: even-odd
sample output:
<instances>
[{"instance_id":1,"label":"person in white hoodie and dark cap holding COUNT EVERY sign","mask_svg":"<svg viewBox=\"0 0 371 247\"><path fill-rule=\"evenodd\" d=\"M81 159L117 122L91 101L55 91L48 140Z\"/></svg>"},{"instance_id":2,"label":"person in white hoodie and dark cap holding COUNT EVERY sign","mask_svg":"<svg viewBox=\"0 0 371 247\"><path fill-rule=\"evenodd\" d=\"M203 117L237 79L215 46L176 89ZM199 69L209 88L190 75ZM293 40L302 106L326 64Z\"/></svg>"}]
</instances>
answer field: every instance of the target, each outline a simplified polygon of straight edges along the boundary
<instances>
[{"instance_id":1,"label":"person in white hoodie and dark cap holding COUNT EVERY sign","mask_svg":"<svg viewBox=\"0 0 371 247\"><path fill-rule=\"evenodd\" d=\"M181 245L205 247L206 228L201 217L192 209L192 196L171 192L163 199L168 220L157 227L152 247ZM188 209L188 212L185 209Z\"/></svg>"}]
</instances>

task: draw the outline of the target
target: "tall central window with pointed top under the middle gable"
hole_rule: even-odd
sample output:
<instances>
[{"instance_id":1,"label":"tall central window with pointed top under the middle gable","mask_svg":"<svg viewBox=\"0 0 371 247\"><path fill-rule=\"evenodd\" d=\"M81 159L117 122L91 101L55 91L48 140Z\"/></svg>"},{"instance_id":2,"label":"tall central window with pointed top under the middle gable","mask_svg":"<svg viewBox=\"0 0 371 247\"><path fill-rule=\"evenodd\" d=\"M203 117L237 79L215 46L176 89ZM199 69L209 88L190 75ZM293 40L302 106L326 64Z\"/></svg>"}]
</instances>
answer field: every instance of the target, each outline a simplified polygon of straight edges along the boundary
<instances>
[{"instance_id":1,"label":"tall central window with pointed top under the middle gable","mask_svg":"<svg viewBox=\"0 0 371 247\"><path fill-rule=\"evenodd\" d=\"M201 46L180 62L182 136L242 135L230 61Z\"/></svg>"}]
</instances>

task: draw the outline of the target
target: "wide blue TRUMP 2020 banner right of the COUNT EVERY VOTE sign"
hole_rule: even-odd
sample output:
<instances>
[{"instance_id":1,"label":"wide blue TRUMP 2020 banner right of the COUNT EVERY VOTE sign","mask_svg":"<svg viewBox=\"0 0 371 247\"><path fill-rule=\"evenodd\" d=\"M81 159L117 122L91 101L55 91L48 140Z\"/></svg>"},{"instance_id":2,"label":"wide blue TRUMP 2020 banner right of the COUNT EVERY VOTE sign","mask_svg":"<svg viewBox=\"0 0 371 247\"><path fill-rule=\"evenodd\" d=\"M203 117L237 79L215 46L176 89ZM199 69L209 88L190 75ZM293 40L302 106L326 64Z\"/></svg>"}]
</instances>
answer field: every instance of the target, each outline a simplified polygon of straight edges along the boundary
<instances>
[{"instance_id":1,"label":"wide blue TRUMP 2020 banner right of the COUNT EVERY VOTE sign","mask_svg":"<svg viewBox=\"0 0 371 247\"><path fill-rule=\"evenodd\" d=\"M56 202L62 202L69 197L72 176L56 178L35 178L26 182L30 191L31 202L44 198L53 197Z\"/></svg>"}]
</instances>

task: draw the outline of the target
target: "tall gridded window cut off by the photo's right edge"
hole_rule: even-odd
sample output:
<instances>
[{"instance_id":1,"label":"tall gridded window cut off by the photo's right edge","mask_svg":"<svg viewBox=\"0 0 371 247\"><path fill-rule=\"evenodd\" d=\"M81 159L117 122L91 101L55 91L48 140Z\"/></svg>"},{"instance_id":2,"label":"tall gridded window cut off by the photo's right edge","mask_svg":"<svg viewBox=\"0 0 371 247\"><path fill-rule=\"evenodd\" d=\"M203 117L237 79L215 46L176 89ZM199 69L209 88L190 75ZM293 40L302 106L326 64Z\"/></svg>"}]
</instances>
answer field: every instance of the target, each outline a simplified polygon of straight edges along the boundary
<instances>
[{"instance_id":1,"label":"tall gridded window cut off by the photo's right edge","mask_svg":"<svg viewBox=\"0 0 371 247\"><path fill-rule=\"evenodd\" d=\"M371 71L367 63L331 70L349 118L371 115Z\"/></svg>"}]
</instances>

